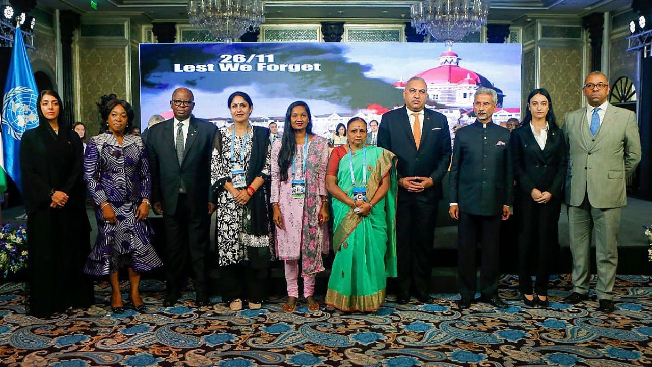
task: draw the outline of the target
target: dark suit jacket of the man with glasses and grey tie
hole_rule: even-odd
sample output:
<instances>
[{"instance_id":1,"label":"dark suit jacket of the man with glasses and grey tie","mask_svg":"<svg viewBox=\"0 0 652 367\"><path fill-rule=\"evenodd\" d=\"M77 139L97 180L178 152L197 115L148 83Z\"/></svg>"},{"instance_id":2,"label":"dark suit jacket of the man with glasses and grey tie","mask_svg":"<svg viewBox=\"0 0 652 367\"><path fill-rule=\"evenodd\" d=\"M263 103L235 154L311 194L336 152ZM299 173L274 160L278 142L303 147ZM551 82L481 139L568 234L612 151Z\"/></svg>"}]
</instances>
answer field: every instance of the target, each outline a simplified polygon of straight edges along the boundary
<instances>
[{"instance_id":1,"label":"dark suit jacket of the man with glasses and grey tie","mask_svg":"<svg viewBox=\"0 0 652 367\"><path fill-rule=\"evenodd\" d=\"M165 214L177 210L179 186L186 187L191 215L208 213L211 200L211 155L217 127L209 121L190 117L183 161L179 167L174 147L174 119L147 129L147 154L152 172L152 202L162 202Z\"/></svg>"}]
</instances>

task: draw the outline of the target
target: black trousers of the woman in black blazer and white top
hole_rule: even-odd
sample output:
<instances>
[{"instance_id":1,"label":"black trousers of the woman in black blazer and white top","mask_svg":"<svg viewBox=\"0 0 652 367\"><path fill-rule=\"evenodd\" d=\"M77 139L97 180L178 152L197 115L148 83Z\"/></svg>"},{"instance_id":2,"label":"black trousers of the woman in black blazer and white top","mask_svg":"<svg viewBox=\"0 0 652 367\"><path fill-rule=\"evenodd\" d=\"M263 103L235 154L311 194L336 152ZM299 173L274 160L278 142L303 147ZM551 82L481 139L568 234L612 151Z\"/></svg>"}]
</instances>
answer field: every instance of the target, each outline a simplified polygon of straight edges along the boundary
<instances>
[{"instance_id":1,"label":"black trousers of the woman in black blazer and white top","mask_svg":"<svg viewBox=\"0 0 652 367\"><path fill-rule=\"evenodd\" d=\"M557 231L561 199L553 198L548 204L539 204L531 198L520 197L518 231L518 289L526 295L533 294L531 276L537 276L535 291L548 295L548 278L551 264L557 253Z\"/></svg>"}]
</instances>

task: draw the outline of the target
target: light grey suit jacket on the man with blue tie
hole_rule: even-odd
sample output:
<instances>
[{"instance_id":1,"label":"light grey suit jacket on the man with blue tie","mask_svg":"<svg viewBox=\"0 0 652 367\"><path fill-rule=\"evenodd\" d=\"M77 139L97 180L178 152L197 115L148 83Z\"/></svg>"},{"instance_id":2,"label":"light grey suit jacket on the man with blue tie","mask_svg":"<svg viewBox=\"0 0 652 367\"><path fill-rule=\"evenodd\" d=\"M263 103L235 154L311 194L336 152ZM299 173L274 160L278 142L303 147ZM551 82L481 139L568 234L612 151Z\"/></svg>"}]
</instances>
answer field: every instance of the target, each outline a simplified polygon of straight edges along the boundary
<instances>
[{"instance_id":1,"label":"light grey suit jacket on the man with blue tie","mask_svg":"<svg viewBox=\"0 0 652 367\"><path fill-rule=\"evenodd\" d=\"M636 116L609 104L593 136L586 113L584 107L564 117L563 131L570 148L566 202L580 206L587 193L594 208L620 208L627 204L625 177L641 160Z\"/></svg>"}]
</instances>

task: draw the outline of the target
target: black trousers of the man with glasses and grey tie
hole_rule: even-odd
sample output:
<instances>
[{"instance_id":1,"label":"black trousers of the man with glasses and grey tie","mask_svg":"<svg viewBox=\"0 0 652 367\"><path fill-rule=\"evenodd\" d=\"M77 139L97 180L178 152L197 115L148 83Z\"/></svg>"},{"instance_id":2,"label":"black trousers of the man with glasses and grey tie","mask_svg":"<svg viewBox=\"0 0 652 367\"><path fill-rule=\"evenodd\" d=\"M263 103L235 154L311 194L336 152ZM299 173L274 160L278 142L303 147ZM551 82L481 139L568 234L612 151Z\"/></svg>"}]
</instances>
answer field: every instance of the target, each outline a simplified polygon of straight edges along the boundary
<instances>
[{"instance_id":1,"label":"black trousers of the man with glasses and grey tie","mask_svg":"<svg viewBox=\"0 0 652 367\"><path fill-rule=\"evenodd\" d=\"M168 293L179 293L186 266L194 272L193 283L197 293L206 293L206 255L209 249L211 217L208 207L203 213L194 213L188 205L188 196L179 194L177 212L168 215L163 212L166 227L165 273Z\"/></svg>"}]
</instances>

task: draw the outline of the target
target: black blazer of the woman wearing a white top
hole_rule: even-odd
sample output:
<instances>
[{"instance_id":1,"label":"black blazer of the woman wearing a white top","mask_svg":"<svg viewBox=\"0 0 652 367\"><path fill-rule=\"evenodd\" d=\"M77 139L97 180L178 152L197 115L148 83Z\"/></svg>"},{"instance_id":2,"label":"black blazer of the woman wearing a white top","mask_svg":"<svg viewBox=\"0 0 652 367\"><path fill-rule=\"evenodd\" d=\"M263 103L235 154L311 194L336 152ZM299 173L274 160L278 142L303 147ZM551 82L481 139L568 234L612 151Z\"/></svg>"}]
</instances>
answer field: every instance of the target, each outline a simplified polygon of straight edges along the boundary
<instances>
[{"instance_id":1,"label":"black blazer of the woman wearing a white top","mask_svg":"<svg viewBox=\"0 0 652 367\"><path fill-rule=\"evenodd\" d=\"M532 189L548 191L552 197L561 199L561 189L568 168L568 149L564 133L556 126L548 127L544 150L532 133L530 124L512 131L514 154L514 179L519 195L531 198Z\"/></svg>"}]
</instances>

